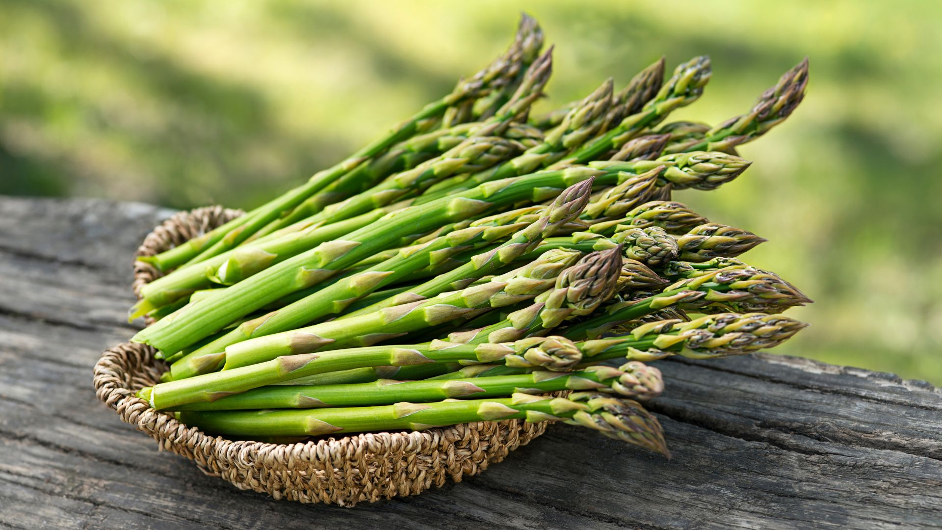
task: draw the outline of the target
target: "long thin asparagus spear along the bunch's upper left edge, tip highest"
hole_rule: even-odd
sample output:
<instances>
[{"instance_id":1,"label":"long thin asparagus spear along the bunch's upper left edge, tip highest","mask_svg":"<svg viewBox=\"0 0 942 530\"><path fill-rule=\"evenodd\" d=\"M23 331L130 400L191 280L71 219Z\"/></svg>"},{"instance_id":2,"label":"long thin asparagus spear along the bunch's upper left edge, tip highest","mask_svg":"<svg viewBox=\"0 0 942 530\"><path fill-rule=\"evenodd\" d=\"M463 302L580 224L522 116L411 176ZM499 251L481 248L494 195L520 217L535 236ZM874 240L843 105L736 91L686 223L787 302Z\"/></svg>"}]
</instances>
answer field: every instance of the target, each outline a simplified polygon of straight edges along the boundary
<instances>
[{"instance_id":1,"label":"long thin asparagus spear along the bunch's upper left edge, tip highest","mask_svg":"<svg viewBox=\"0 0 942 530\"><path fill-rule=\"evenodd\" d=\"M537 36L539 36L537 38ZM382 154L388 147L414 135L419 125L430 118L442 116L447 108L475 100L490 91L506 85L520 69L521 48L532 47L533 41L542 43L542 32L525 17L517 31L515 40L507 54L497 58L488 68L470 79L462 80L447 96L432 102L415 113L411 118L398 124L382 138L333 165L333 167L314 174L305 184L289 190L278 198L257 207L235 220L223 224L198 238L188 240L167 252L153 257L138 257L139 260L154 265L160 271L168 271L179 265L205 257L215 256L219 252L232 248L238 242L247 239L252 233L277 218L285 210L296 207L311 194L323 189L334 180L356 168L366 159ZM537 45L539 47L539 45Z\"/></svg>"}]
</instances>

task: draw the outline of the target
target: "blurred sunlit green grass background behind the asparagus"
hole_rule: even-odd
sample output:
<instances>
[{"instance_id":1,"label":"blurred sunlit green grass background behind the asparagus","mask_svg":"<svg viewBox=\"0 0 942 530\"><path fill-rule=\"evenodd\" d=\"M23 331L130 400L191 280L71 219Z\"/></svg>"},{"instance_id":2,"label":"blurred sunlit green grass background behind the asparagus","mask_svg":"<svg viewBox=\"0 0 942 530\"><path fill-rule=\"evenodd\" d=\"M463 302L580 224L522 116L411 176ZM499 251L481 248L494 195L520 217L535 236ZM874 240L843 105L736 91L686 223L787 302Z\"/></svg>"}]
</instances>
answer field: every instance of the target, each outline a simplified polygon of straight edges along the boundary
<instances>
[{"instance_id":1,"label":"blurred sunlit green grass background behind the asparagus","mask_svg":"<svg viewBox=\"0 0 942 530\"><path fill-rule=\"evenodd\" d=\"M0 0L0 193L256 206L477 71L522 9L557 45L540 111L708 54L672 119L716 123L806 55L753 168L678 199L817 300L778 353L942 383L942 8L902 4Z\"/></svg>"}]
</instances>

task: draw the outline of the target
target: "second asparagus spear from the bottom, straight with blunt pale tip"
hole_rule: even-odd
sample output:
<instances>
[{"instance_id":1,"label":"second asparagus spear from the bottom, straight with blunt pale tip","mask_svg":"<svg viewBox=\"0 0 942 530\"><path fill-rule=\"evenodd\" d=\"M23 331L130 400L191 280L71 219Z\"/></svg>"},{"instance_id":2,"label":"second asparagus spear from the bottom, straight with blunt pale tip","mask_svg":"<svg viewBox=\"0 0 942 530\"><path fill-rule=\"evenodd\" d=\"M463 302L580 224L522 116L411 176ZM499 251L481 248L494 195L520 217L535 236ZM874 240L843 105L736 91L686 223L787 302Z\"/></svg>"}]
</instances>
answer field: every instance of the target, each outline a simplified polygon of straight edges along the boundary
<instances>
[{"instance_id":1,"label":"second asparagus spear from the bottom, straight with blunt pale tip","mask_svg":"<svg viewBox=\"0 0 942 530\"><path fill-rule=\"evenodd\" d=\"M620 368L592 366L572 373L536 371L517 375L466 379L397 381L379 379L348 385L269 386L213 402L178 406L174 410L249 410L259 408L323 408L328 406L428 403L456 398L510 396L560 390L592 390L634 399L649 399L664 389L657 368L631 361Z\"/></svg>"}]
</instances>

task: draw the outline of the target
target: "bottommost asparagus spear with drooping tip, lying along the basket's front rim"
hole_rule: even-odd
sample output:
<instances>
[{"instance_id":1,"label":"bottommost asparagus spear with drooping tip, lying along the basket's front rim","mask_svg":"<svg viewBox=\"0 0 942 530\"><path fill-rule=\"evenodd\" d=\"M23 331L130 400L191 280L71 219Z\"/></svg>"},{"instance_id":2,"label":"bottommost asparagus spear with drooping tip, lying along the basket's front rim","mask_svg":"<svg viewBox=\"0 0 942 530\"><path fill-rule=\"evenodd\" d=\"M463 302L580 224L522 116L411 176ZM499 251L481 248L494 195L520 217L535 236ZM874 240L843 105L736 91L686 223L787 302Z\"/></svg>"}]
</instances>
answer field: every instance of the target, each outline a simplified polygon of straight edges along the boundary
<instances>
[{"instance_id":1,"label":"bottommost asparagus spear with drooping tip, lying along the basket's front rim","mask_svg":"<svg viewBox=\"0 0 942 530\"><path fill-rule=\"evenodd\" d=\"M466 422L565 421L670 456L658 420L638 402L579 392L574 399L515 393L510 398L398 403L313 410L183 411L177 418L207 433L295 437L367 431L420 431Z\"/></svg>"}]
</instances>

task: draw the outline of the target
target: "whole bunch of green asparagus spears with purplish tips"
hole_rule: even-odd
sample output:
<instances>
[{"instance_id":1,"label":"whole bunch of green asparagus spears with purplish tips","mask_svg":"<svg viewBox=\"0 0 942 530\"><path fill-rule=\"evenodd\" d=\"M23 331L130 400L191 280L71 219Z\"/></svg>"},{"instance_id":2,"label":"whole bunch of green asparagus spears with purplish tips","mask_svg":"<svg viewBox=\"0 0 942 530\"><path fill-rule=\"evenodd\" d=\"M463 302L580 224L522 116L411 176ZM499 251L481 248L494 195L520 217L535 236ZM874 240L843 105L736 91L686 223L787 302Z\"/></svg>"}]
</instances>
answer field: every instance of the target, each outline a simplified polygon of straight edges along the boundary
<instances>
[{"instance_id":1,"label":"whole bunch of green asparagus spears with purplish tips","mask_svg":"<svg viewBox=\"0 0 942 530\"><path fill-rule=\"evenodd\" d=\"M507 51L382 138L266 205L153 257L131 318L170 363L138 396L246 439L568 422L668 455L645 362L775 346L810 300L737 259L765 241L673 190L715 190L804 97L807 61L745 114L664 123L707 57L531 117L552 49L524 16ZM611 364L615 361L614 364ZM568 392L571 391L571 392ZM566 397L547 397L544 394ZM568 392L568 393L566 393Z\"/></svg>"}]
</instances>

